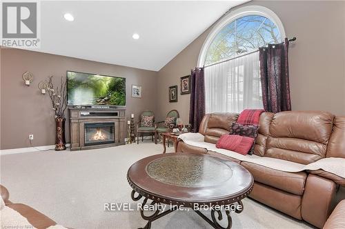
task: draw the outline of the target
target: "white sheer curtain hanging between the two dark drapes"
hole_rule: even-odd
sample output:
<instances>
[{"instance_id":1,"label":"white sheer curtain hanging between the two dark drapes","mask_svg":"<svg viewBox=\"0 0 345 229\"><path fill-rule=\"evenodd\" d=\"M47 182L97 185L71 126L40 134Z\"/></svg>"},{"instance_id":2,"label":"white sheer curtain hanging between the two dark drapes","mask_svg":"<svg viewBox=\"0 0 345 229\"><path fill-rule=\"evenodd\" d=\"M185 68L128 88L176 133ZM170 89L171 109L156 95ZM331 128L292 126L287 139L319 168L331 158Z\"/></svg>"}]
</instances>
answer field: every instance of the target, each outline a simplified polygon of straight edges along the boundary
<instances>
[{"instance_id":1,"label":"white sheer curtain hanging between the two dark drapes","mask_svg":"<svg viewBox=\"0 0 345 229\"><path fill-rule=\"evenodd\" d=\"M259 52L208 66L204 75L206 113L263 108Z\"/></svg>"}]
</instances>

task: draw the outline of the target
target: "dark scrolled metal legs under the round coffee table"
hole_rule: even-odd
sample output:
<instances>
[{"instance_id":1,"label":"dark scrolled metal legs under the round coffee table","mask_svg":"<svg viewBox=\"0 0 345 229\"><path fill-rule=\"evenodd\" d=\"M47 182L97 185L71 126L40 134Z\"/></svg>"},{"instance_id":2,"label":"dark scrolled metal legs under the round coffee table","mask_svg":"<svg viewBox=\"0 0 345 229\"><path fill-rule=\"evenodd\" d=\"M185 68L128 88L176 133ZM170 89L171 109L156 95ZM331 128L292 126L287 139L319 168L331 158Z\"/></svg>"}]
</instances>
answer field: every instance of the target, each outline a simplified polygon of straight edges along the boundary
<instances>
[{"instance_id":1,"label":"dark scrolled metal legs under the round coffee table","mask_svg":"<svg viewBox=\"0 0 345 229\"><path fill-rule=\"evenodd\" d=\"M143 196L138 193L137 197L135 197L135 190L132 190L130 197L132 197L133 201L139 201ZM144 197L144 198L145 199L143 201L142 206L146 206L148 204L147 203L148 198L147 197ZM235 208L236 209L235 213L238 214L238 213L241 213L243 210L243 203L242 203L242 201L237 201L237 203L239 206L242 207L241 210L237 210L237 208ZM230 204L230 206L232 206L232 205L234 205L234 203ZM146 223L144 228L139 228L139 229L150 229L152 221L155 221L156 219L164 217L165 215L168 215L170 212L173 212L173 211L178 209L177 207L176 208L172 207L172 208L170 208L164 212L159 213L161 211L161 208L160 208L161 203L154 201L154 200L151 201L150 206L156 206L156 208L157 208L152 215L147 216L144 214L144 209L143 208L140 209L141 217L143 219L147 220L148 223ZM226 227L223 227L218 223L218 221L221 221L223 219L223 215L221 213L221 210L211 209L211 219L212 220L209 219L208 217L206 217L206 215L202 214L199 210L194 210L194 211L197 213L197 215L199 215L202 219L204 219L206 222L208 222L210 224L210 226L212 226L215 229L230 229L232 226L233 221L232 221L231 216L230 216L230 210L225 210L226 219L228 221L228 225ZM217 217L215 216L216 212L217 212Z\"/></svg>"}]
</instances>

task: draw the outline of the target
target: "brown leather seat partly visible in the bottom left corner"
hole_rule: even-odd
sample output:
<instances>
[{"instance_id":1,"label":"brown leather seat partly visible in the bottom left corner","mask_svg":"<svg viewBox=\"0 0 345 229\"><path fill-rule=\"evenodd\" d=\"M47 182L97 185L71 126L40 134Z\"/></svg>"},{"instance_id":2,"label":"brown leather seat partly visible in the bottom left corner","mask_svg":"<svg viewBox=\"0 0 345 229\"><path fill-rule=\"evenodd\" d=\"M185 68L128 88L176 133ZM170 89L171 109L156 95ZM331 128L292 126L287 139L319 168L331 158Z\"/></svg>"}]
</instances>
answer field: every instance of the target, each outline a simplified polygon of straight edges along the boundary
<instances>
[{"instance_id":1,"label":"brown leather seat partly visible in the bottom left corner","mask_svg":"<svg viewBox=\"0 0 345 229\"><path fill-rule=\"evenodd\" d=\"M5 202L5 205L9 208L12 208L13 210L16 210L21 214L23 217L26 217L28 219L29 223L31 223L32 226L34 226L37 229L43 229L43 228L49 228L50 226L55 226L57 223L53 221L52 219L46 217L41 212L34 210L34 208L31 208L30 206L27 206L23 203L12 203L8 200L10 197L10 194L4 186L0 185L0 192L1 197L3 201Z\"/></svg>"}]
</instances>

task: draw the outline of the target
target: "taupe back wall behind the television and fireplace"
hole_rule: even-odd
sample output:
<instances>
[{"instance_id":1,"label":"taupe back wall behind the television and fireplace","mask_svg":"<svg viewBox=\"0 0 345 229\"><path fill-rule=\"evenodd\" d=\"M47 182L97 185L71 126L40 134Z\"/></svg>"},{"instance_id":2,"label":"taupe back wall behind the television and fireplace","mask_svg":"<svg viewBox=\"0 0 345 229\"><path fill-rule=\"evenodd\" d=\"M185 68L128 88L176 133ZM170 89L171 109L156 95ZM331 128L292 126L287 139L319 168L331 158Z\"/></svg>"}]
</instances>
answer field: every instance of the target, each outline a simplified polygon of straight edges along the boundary
<instances>
[{"instance_id":1,"label":"taupe back wall behind the television and fireplace","mask_svg":"<svg viewBox=\"0 0 345 229\"><path fill-rule=\"evenodd\" d=\"M95 61L62 57L41 52L1 48L1 149L29 147L28 135L34 135L34 146L55 143L55 122L48 95L39 92L37 84L50 75L66 77L66 70L126 77L126 116L142 110L156 110L157 72L115 66ZM23 72L34 74L31 86L25 86ZM142 98L130 97L132 84L143 87ZM67 141L69 126L66 125Z\"/></svg>"}]
</instances>

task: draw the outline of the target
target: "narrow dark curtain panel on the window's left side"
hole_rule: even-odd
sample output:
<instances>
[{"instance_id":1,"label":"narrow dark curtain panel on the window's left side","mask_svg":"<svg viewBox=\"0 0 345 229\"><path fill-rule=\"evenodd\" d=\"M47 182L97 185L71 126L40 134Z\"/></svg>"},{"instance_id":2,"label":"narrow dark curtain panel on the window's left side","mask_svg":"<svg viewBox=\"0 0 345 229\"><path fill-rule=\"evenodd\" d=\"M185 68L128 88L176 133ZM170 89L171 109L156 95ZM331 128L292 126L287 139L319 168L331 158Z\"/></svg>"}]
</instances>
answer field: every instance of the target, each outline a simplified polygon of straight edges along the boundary
<instances>
[{"instance_id":1,"label":"narrow dark curtain panel on the window's left side","mask_svg":"<svg viewBox=\"0 0 345 229\"><path fill-rule=\"evenodd\" d=\"M190 109L189 123L193 132L199 132L199 126L205 115L205 79L204 68L195 68L190 74Z\"/></svg>"}]
</instances>

